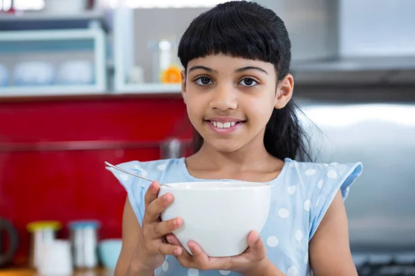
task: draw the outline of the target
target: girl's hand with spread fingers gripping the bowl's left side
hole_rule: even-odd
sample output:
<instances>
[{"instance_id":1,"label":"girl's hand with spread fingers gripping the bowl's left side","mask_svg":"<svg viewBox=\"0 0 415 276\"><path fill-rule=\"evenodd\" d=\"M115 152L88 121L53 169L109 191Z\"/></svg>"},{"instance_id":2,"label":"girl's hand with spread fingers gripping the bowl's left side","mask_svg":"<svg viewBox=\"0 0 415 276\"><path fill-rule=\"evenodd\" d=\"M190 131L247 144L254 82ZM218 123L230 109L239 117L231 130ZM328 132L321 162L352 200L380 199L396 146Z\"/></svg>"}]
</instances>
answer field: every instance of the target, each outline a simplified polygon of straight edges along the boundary
<instances>
[{"instance_id":1,"label":"girl's hand with spread fingers gripping the bowl's left side","mask_svg":"<svg viewBox=\"0 0 415 276\"><path fill-rule=\"evenodd\" d=\"M165 255L181 255L184 248L180 245L167 244L165 235L183 225L180 218L160 221L160 213L167 206L172 204L173 195L165 194L158 197L160 184L157 181L145 194L145 215L142 219L142 230L136 248L136 260L140 262L140 267L147 270L155 270L165 261Z\"/></svg>"}]
</instances>

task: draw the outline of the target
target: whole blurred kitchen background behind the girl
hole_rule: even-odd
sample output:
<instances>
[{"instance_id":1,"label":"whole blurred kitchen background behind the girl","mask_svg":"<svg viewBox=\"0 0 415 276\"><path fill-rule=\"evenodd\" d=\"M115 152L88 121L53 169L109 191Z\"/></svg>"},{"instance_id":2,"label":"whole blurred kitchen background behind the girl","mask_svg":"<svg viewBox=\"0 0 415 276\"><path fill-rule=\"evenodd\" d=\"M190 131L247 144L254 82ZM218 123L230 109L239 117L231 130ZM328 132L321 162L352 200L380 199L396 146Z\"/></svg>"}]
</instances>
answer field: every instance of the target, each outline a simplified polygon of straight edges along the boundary
<instances>
[{"instance_id":1,"label":"whole blurred kitchen background behind the girl","mask_svg":"<svg viewBox=\"0 0 415 276\"><path fill-rule=\"evenodd\" d=\"M111 271L126 193L104 161L189 154L176 47L220 2L0 0L0 275ZM363 163L359 275L415 275L415 1L257 2L291 34L319 161Z\"/></svg>"}]
</instances>

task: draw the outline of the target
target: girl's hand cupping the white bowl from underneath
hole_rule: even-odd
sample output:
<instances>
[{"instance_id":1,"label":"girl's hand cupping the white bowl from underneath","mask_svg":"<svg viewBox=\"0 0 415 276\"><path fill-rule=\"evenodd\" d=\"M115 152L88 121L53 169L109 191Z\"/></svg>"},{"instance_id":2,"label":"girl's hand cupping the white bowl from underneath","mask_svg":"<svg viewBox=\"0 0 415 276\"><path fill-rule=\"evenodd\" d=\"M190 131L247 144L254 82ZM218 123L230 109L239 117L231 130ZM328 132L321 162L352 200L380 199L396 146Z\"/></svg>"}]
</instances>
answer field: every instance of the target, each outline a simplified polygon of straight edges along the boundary
<instances>
[{"instance_id":1,"label":"girl's hand cupping the white bowl from underneath","mask_svg":"<svg viewBox=\"0 0 415 276\"><path fill-rule=\"evenodd\" d=\"M167 242L181 246L174 235L167 235ZM259 233L252 231L248 235L248 249L241 255L232 257L208 257L196 242L188 242L192 256L183 248L181 255L176 256L178 262L185 268L200 270L229 270L237 273L248 273L259 268L266 260L266 247L259 237Z\"/></svg>"}]
</instances>

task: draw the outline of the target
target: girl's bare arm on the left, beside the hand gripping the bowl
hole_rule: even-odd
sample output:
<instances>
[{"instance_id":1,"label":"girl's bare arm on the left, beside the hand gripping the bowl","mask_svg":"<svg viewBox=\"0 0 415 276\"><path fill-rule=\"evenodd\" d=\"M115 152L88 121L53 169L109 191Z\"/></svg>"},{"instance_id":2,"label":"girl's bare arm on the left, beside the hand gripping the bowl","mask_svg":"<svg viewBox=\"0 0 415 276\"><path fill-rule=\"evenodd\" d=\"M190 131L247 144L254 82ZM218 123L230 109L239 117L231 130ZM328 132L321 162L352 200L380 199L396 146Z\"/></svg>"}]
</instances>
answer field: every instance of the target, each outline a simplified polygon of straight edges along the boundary
<instances>
[{"instance_id":1,"label":"girl's bare arm on the left, beside the hand gripping the bowl","mask_svg":"<svg viewBox=\"0 0 415 276\"><path fill-rule=\"evenodd\" d=\"M138 246L140 234L140 224L138 223L136 215L134 214L133 208L131 207L127 197L124 204L124 212L122 214L122 248L114 272L115 276L134 275L134 273L140 269L130 265L131 263L134 263L132 262L132 259ZM153 275L153 272L148 272L146 274Z\"/></svg>"}]
</instances>

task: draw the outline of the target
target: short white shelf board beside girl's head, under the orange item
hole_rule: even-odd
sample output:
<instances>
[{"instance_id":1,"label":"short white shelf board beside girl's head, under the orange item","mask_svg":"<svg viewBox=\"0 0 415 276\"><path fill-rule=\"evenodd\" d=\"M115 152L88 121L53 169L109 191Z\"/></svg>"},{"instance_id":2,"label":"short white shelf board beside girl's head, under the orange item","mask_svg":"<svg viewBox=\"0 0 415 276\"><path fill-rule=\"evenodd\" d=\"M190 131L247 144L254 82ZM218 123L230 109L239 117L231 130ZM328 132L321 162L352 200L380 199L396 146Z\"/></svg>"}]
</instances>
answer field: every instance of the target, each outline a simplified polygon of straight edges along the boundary
<instances>
[{"instance_id":1,"label":"short white shelf board beside girl's head, under the orange item","mask_svg":"<svg viewBox=\"0 0 415 276\"><path fill-rule=\"evenodd\" d=\"M180 94L181 84L137 83L124 84L115 91L116 94Z\"/></svg>"}]
</instances>

